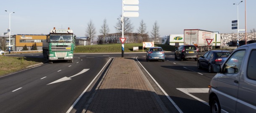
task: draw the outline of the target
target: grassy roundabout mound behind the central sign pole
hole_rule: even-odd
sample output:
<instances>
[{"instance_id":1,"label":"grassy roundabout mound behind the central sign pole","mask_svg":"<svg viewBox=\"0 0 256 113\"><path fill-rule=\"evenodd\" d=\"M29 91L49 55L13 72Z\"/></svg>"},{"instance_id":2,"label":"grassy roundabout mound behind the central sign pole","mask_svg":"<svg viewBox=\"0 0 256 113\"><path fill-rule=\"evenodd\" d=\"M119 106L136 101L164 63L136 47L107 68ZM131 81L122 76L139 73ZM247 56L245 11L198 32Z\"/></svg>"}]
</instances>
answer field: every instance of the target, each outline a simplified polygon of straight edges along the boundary
<instances>
[{"instance_id":1,"label":"grassy roundabout mound behind the central sign pole","mask_svg":"<svg viewBox=\"0 0 256 113\"><path fill-rule=\"evenodd\" d=\"M138 46L138 51L133 51L133 47ZM160 46L164 51L175 51L174 46L155 44L154 46ZM124 44L125 52L142 52L143 44L132 43ZM144 51L148 48L144 48ZM91 46L76 46L74 53L116 53L122 52L122 44L102 44L102 45L91 45Z\"/></svg>"}]
</instances>

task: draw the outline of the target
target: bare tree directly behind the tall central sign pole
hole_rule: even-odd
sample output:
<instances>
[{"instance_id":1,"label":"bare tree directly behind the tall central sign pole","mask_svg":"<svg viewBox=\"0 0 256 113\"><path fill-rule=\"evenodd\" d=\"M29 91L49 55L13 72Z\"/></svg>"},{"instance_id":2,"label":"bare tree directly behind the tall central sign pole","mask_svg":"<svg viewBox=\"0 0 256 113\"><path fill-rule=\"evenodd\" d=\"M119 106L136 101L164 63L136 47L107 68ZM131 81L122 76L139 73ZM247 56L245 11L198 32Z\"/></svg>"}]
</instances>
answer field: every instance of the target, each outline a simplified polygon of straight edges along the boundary
<instances>
[{"instance_id":1,"label":"bare tree directly behind the tall central sign pole","mask_svg":"<svg viewBox=\"0 0 256 113\"><path fill-rule=\"evenodd\" d=\"M120 15L120 17L122 17L122 15ZM123 25L123 33L124 34L133 32L133 26L132 26L131 20L129 20L128 17L123 18L123 24L124 24ZM118 33L122 33L121 19L118 19L118 23L116 23L115 29L118 31Z\"/></svg>"}]
</instances>

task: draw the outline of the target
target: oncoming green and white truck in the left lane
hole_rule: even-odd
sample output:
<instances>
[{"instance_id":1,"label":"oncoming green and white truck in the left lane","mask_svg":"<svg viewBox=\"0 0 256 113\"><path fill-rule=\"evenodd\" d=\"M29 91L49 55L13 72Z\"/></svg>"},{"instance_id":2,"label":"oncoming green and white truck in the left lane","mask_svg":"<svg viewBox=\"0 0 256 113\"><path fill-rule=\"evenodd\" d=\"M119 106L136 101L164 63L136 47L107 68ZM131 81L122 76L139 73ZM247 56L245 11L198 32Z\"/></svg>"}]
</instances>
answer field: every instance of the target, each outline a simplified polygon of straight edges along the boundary
<instances>
[{"instance_id":1,"label":"oncoming green and white truck in the left lane","mask_svg":"<svg viewBox=\"0 0 256 113\"><path fill-rule=\"evenodd\" d=\"M66 60L73 62L73 51L76 35L73 30L56 29L55 27L47 35L47 39L43 40L43 56L52 64L56 60Z\"/></svg>"}]
</instances>

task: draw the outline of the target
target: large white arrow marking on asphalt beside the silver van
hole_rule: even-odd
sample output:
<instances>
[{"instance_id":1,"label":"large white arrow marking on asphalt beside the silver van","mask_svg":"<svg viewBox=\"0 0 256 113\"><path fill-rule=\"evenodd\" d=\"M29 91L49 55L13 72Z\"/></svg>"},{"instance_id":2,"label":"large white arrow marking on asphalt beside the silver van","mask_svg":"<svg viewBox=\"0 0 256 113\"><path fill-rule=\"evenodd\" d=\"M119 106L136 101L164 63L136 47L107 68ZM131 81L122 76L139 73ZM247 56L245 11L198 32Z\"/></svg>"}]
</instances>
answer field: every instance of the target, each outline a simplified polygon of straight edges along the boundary
<instances>
[{"instance_id":1,"label":"large white arrow marking on asphalt beside the silver van","mask_svg":"<svg viewBox=\"0 0 256 113\"><path fill-rule=\"evenodd\" d=\"M176 88L176 89L180 90L181 92L184 92L185 94L191 96L192 98L209 106L209 104L204 100L201 100L200 98L197 98L196 96L190 94L190 93L208 93L209 88Z\"/></svg>"}]
</instances>

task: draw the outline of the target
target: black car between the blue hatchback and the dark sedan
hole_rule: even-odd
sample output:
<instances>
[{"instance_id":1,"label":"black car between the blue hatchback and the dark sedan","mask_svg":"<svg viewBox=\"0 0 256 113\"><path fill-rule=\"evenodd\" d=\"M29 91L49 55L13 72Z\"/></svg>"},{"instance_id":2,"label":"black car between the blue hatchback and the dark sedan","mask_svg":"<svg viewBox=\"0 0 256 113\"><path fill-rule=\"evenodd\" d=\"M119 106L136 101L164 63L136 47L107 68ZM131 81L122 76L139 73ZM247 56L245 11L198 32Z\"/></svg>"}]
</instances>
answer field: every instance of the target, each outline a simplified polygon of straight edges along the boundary
<instances>
[{"instance_id":1,"label":"black car between the blue hatchback and the dark sedan","mask_svg":"<svg viewBox=\"0 0 256 113\"><path fill-rule=\"evenodd\" d=\"M183 61L183 59L195 59L197 61L198 52L198 49L194 45L182 45L176 49L174 57L175 59L179 58L180 61Z\"/></svg>"}]
</instances>

